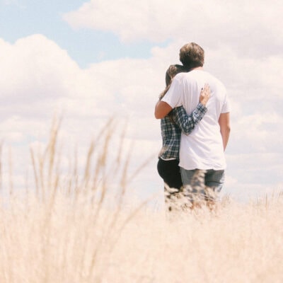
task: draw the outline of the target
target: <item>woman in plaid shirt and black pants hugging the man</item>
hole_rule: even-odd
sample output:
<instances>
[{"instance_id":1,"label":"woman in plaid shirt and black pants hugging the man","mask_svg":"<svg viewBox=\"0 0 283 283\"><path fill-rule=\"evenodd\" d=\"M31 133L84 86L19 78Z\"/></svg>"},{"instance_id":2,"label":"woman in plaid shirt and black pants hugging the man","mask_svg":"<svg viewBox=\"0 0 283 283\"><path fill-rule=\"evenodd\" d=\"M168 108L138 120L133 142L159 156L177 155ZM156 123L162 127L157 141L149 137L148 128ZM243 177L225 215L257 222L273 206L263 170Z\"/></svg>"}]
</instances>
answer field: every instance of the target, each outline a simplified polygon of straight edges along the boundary
<instances>
[{"instance_id":1,"label":"woman in plaid shirt and black pants hugging the man","mask_svg":"<svg viewBox=\"0 0 283 283\"><path fill-rule=\"evenodd\" d=\"M159 99L165 96L166 92L170 88L171 81L173 77L180 73L188 71L182 65L171 65L166 71L166 88L159 96ZM165 183L165 201L168 204L168 209L171 210L171 201L176 193L180 192L183 186L179 164L179 148L180 148L180 137L181 132L184 134L190 134L195 128L207 108L207 100L210 97L209 86L204 86L200 93L200 103L197 108L190 114L180 106L174 108L171 112L161 119L161 136L163 141L163 146L158 154L157 170L158 174L163 178Z\"/></svg>"}]
</instances>

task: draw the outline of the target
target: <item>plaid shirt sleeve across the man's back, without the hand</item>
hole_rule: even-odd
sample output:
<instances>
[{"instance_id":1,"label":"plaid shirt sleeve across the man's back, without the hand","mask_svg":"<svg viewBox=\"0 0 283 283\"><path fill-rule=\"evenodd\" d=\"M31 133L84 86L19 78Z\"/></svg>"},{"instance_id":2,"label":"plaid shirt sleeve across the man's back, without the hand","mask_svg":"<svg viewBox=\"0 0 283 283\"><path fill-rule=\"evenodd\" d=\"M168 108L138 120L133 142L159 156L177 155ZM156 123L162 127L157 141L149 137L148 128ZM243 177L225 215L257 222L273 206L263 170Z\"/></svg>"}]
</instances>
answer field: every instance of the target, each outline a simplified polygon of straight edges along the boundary
<instances>
[{"instance_id":1,"label":"plaid shirt sleeve across the man's back, without the hand","mask_svg":"<svg viewBox=\"0 0 283 283\"><path fill-rule=\"evenodd\" d=\"M204 117L206 112L207 108L202 105L202 103L199 103L197 108L195 108L190 115L187 115L183 106L180 106L178 108L174 108L173 119L182 132L188 135L195 128L195 125L202 120L202 117Z\"/></svg>"}]
</instances>

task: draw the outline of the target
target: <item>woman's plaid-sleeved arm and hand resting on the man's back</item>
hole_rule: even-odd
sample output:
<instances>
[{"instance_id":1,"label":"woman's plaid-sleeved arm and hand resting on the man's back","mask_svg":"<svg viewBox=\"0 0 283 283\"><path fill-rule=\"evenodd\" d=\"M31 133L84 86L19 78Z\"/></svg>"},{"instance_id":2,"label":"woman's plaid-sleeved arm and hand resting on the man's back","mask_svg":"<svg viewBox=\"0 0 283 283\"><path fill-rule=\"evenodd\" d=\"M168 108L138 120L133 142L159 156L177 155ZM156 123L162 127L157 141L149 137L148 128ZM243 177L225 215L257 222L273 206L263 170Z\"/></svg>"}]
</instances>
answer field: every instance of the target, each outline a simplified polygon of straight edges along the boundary
<instances>
[{"instance_id":1,"label":"woman's plaid-sleeved arm and hand resting on the man's back","mask_svg":"<svg viewBox=\"0 0 283 283\"><path fill-rule=\"evenodd\" d=\"M195 129L195 125L204 117L204 114L207 112L205 105L207 105L210 94L209 86L206 84L200 93L200 103L190 115L187 115L183 106L174 109L173 120L184 134L190 134L192 130Z\"/></svg>"}]
</instances>

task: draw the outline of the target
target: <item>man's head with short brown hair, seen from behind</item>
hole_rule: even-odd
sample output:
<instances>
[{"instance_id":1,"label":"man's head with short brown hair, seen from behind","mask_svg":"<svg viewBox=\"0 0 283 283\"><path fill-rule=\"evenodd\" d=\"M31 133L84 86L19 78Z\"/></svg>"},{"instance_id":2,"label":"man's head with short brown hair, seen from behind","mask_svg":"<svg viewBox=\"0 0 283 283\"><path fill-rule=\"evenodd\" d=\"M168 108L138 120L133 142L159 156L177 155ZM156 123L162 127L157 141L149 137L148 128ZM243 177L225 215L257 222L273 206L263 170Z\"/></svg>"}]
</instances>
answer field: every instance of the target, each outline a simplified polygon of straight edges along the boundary
<instances>
[{"instance_id":1,"label":"man's head with short brown hair, seen from behind","mask_svg":"<svg viewBox=\"0 0 283 283\"><path fill-rule=\"evenodd\" d=\"M204 50L195 42L190 42L180 49L180 62L187 68L202 67L204 64Z\"/></svg>"}]
</instances>

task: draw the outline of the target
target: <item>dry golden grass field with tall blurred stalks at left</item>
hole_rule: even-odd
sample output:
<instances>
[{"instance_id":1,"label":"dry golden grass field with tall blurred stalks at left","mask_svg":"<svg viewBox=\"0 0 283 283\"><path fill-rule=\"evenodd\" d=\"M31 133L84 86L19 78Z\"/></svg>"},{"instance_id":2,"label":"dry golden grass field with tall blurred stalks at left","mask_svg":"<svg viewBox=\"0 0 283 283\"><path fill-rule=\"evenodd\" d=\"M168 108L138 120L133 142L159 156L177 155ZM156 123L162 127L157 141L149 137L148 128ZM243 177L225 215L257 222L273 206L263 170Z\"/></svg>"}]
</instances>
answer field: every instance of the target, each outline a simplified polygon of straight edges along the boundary
<instances>
[{"instance_id":1,"label":"dry golden grass field with tall blurred stalks at left","mask_svg":"<svg viewBox=\"0 0 283 283\"><path fill-rule=\"evenodd\" d=\"M169 217L126 205L129 157L118 149L107 166L114 126L81 173L76 162L60 173L59 124L43 152L31 149L35 190L2 192L1 283L283 282L282 195Z\"/></svg>"}]
</instances>

